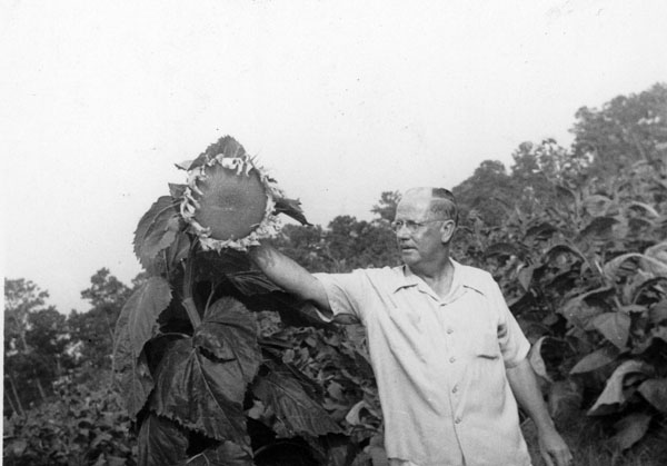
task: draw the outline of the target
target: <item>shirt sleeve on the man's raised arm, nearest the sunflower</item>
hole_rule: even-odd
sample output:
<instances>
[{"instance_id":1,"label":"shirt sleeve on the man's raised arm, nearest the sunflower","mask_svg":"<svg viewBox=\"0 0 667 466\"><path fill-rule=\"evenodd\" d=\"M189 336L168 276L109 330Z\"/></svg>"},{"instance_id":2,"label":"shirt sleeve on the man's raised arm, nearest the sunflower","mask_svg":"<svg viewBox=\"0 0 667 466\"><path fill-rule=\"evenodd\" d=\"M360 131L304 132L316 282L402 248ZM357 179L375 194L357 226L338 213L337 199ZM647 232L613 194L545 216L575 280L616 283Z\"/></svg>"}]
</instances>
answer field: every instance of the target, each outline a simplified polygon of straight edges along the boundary
<instances>
[{"instance_id":1,"label":"shirt sleeve on the man's raised arm, nearest the sunflower","mask_svg":"<svg viewBox=\"0 0 667 466\"><path fill-rule=\"evenodd\" d=\"M365 286L367 279L361 270L355 270L350 274L312 274L327 293L329 306L331 306L332 317L327 318L320 314L325 321L331 321L339 315L351 315L359 320L364 320L361 309L365 296Z\"/></svg>"}]
</instances>

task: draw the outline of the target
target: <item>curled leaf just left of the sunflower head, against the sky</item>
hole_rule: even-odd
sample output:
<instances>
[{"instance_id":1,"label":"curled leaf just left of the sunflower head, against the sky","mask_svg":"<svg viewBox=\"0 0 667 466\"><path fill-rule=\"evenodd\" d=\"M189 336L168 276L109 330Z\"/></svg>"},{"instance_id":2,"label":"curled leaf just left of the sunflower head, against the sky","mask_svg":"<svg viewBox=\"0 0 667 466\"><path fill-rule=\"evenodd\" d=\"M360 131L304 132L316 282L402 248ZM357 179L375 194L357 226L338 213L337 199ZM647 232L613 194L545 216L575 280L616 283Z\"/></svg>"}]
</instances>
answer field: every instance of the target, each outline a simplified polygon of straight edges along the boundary
<instances>
[{"instance_id":1,"label":"curled leaf just left of the sunflower head, against the sky","mask_svg":"<svg viewBox=\"0 0 667 466\"><path fill-rule=\"evenodd\" d=\"M170 196L158 198L141 217L135 231L135 254L147 270L152 268L158 252L173 242L180 227L180 215Z\"/></svg>"}]
</instances>

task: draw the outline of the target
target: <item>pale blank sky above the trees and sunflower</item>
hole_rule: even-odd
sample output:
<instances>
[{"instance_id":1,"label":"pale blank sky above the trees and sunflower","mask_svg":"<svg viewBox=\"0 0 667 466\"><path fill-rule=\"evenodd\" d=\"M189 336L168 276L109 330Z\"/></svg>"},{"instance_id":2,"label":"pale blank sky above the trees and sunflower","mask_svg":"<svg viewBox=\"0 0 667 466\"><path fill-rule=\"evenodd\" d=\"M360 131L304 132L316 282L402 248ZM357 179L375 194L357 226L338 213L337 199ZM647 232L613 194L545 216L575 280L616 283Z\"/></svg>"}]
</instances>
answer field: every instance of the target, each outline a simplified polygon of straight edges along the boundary
<instances>
[{"instance_id":1,"label":"pale blank sky above the trees and sunflower","mask_svg":"<svg viewBox=\"0 0 667 466\"><path fill-rule=\"evenodd\" d=\"M231 135L308 218L452 187L667 80L665 1L6 1L3 264L60 311L132 232L173 162Z\"/></svg>"}]
</instances>

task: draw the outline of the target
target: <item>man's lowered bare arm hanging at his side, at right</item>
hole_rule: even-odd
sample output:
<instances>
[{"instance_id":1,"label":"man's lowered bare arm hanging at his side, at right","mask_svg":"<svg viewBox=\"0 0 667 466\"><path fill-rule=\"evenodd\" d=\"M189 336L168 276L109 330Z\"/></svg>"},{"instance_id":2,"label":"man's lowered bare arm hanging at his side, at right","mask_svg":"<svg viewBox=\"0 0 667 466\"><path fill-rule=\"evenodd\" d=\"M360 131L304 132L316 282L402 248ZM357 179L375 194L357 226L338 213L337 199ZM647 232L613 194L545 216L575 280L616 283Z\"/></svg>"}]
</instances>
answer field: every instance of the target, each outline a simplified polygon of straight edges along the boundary
<instances>
[{"instance_id":1,"label":"man's lowered bare arm hanging at his side, at right","mask_svg":"<svg viewBox=\"0 0 667 466\"><path fill-rule=\"evenodd\" d=\"M547 412L535 371L530 367L528 358L521 360L517 366L508 368L506 373L517 401L528 413L537 427L539 450L546 464L548 466L569 465L573 455L560 434L556 430L554 420Z\"/></svg>"}]
</instances>

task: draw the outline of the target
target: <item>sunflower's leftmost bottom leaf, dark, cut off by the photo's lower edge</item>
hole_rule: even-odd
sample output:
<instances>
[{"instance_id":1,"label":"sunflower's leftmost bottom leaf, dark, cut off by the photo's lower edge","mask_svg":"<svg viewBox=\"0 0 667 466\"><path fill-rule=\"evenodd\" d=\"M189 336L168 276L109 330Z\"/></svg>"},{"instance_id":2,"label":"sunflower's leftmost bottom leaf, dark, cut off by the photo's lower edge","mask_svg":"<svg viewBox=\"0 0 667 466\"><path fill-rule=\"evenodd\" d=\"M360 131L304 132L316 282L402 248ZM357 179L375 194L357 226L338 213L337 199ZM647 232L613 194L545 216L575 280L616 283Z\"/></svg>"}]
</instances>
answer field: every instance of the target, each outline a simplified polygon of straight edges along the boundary
<instances>
[{"instance_id":1,"label":"sunflower's leftmost bottom leaf, dark, cut off by the photo's lower edge","mask_svg":"<svg viewBox=\"0 0 667 466\"><path fill-rule=\"evenodd\" d=\"M178 424L149 414L139 429L139 466L178 465L188 458L188 433Z\"/></svg>"}]
</instances>

